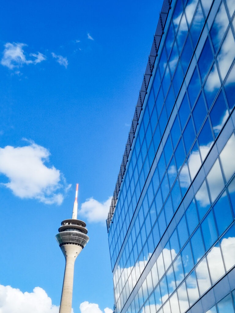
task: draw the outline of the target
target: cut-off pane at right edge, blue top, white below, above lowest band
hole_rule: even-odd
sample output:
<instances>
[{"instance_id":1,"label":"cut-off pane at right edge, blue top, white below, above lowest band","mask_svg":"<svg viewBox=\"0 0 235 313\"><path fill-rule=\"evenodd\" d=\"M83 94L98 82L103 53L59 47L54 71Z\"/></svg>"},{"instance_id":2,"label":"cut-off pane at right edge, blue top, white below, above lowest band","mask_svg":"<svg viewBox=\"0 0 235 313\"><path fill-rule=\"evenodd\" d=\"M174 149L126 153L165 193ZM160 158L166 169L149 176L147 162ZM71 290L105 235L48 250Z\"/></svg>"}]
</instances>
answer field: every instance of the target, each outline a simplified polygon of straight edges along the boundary
<instances>
[{"instance_id":1,"label":"cut-off pane at right edge, blue top, white below, above lowest band","mask_svg":"<svg viewBox=\"0 0 235 313\"><path fill-rule=\"evenodd\" d=\"M229 228L227 233L220 239L225 268L228 271L235 264L235 227Z\"/></svg>"}]
</instances>

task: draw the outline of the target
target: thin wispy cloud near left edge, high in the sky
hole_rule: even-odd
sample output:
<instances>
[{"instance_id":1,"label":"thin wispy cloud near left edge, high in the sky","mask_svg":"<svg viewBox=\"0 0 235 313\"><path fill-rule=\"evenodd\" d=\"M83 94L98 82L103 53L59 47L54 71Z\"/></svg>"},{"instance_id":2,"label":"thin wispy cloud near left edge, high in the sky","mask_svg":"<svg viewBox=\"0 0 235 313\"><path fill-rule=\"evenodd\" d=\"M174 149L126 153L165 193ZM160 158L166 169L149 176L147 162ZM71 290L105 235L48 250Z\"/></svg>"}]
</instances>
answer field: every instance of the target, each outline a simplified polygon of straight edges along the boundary
<instances>
[{"instance_id":1,"label":"thin wispy cloud near left edge, high in the sky","mask_svg":"<svg viewBox=\"0 0 235 313\"><path fill-rule=\"evenodd\" d=\"M5 49L3 51L3 58L1 59L1 64L7 66L9 69L15 67L23 66L24 64L37 64L46 59L46 57L38 52L37 54L31 53L30 56L35 59L26 59L23 47L27 46L23 43L6 43L4 45Z\"/></svg>"}]
</instances>

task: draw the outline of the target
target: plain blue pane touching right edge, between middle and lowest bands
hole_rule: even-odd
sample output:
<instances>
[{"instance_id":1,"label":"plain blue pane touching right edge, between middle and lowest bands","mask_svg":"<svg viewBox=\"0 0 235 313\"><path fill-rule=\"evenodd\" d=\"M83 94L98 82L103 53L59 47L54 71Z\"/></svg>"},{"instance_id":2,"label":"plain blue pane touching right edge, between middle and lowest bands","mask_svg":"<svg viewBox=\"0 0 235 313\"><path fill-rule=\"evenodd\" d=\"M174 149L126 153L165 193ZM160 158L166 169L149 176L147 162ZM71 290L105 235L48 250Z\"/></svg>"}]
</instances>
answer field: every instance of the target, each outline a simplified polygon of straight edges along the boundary
<instances>
[{"instance_id":1,"label":"plain blue pane touching right edge, between middle and lowest bands","mask_svg":"<svg viewBox=\"0 0 235 313\"><path fill-rule=\"evenodd\" d=\"M220 236L233 221L232 212L228 202L226 191L213 206L213 211L215 214L216 225Z\"/></svg>"}]
</instances>

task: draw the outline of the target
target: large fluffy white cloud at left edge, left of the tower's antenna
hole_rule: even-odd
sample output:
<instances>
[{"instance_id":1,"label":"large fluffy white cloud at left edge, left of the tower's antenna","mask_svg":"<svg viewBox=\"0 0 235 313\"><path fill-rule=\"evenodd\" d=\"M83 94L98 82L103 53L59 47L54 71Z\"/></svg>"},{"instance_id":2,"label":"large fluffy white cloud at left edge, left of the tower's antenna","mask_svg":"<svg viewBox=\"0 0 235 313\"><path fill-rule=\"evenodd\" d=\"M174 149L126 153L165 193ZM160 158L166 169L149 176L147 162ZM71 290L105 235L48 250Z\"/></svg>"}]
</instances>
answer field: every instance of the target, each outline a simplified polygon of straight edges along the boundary
<instances>
[{"instance_id":1,"label":"large fluffy white cloud at left edge, left of the tower's antenna","mask_svg":"<svg viewBox=\"0 0 235 313\"><path fill-rule=\"evenodd\" d=\"M33 141L28 146L0 148L0 173L9 182L1 183L20 198L34 198L46 204L61 204L71 185L54 166L47 167L50 152Z\"/></svg>"}]
</instances>

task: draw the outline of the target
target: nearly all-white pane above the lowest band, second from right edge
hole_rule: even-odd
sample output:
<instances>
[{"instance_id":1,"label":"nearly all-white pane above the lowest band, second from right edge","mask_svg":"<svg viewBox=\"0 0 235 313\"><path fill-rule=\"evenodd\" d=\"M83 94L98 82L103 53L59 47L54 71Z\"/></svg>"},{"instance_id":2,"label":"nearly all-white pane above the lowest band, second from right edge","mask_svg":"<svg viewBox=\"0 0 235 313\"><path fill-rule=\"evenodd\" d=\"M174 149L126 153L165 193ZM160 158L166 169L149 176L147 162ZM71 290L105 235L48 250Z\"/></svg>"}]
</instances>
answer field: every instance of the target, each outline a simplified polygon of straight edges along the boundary
<instances>
[{"instance_id":1,"label":"nearly all-white pane above the lowest band, second from right edge","mask_svg":"<svg viewBox=\"0 0 235 313\"><path fill-rule=\"evenodd\" d=\"M225 274L219 243L207 254L207 262L212 284L215 284Z\"/></svg>"}]
</instances>

